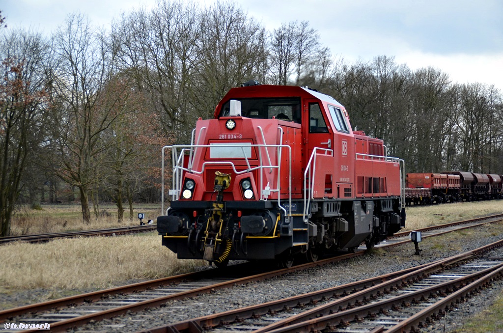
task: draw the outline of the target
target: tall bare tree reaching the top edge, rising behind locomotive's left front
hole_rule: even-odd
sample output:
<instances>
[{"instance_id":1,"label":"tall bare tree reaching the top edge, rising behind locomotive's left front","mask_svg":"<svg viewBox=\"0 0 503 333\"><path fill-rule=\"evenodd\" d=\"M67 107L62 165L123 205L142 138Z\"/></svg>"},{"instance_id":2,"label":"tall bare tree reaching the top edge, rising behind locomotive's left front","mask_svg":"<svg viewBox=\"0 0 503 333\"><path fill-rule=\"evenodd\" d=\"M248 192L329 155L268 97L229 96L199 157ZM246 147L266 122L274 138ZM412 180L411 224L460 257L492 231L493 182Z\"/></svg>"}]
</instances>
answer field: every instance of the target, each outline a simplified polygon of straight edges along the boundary
<instances>
[{"instance_id":1,"label":"tall bare tree reaching the top edge, rising behind locomotive's left front","mask_svg":"<svg viewBox=\"0 0 503 333\"><path fill-rule=\"evenodd\" d=\"M166 131L187 137L191 89L198 55L199 12L195 5L162 1L150 13L134 12L115 25L118 57L137 75L139 89ZM183 141L182 141L183 142Z\"/></svg>"}]
</instances>

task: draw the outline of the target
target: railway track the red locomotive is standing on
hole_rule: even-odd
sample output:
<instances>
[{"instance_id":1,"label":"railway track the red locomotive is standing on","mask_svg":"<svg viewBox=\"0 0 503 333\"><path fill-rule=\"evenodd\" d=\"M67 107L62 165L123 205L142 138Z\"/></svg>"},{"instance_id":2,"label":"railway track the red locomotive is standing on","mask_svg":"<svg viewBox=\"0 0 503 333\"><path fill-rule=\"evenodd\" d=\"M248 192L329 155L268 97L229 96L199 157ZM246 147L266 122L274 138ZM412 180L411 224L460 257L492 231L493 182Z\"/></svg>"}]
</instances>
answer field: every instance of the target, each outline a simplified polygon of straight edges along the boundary
<instances>
[{"instance_id":1,"label":"railway track the red locomotive is standing on","mask_svg":"<svg viewBox=\"0 0 503 333\"><path fill-rule=\"evenodd\" d=\"M491 223L497 220L498 216L490 216L486 218L484 223ZM477 222L473 222L472 226L481 223L478 220ZM462 228L468 224L470 222L462 221L458 223L458 226ZM459 230L452 224L449 224L448 228L450 229L449 231ZM432 233L428 236L433 235L435 232L444 233L443 231L428 231ZM394 246L409 241L408 232L405 232L404 235L395 237L392 241L390 240L380 245ZM358 251L354 254L350 253L316 263L268 272L264 272L263 267L261 268L262 272L260 272L258 268L246 266L250 265L248 263L238 264L229 266L226 270L211 269L4 310L0 311L0 319L33 323L49 322L51 323L51 330L60 331L83 325L90 321L115 317L129 311L133 312L159 306L170 300L184 299L237 284L265 280L285 273L326 265L364 254L365 251ZM256 274L249 276L251 270L255 270ZM237 274L236 272L248 272L248 274Z\"/></svg>"}]
</instances>

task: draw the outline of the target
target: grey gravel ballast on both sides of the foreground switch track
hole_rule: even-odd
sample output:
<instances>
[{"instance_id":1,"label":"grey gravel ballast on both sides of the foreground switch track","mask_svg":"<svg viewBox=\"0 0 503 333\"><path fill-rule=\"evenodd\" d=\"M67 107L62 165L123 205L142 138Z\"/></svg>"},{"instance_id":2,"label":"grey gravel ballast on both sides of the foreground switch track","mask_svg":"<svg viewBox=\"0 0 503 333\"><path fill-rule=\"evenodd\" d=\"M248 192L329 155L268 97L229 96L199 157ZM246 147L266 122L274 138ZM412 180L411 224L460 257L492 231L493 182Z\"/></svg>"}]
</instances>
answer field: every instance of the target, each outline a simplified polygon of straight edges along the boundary
<instances>
[{"instance_id":1,"label":"grey gravel ballast on both sides of the foreground switch track","mask_svg":"<svg viewBox=\"0 0 503 333\"><path fill-rule=\"evenodd\" d=\"M373 276L426 264L442 258L469 251L503 237L503 225L481 226L472 231L454 232L443 236L425 238L420 247L421 256L414 256L414 245L408 243L380 249L363 257L324 267L306 269L267 281L248 283L211 294L182 301L166 303L164 307L103 320L79 327L86 331L127 331L156 327L193 317L227 311L239 307L291 297ZM497 282L454 309L443 320L424 331L450 331L473 314L492 304L502 294L503 284Z\"/></svg>"}]
</instances>

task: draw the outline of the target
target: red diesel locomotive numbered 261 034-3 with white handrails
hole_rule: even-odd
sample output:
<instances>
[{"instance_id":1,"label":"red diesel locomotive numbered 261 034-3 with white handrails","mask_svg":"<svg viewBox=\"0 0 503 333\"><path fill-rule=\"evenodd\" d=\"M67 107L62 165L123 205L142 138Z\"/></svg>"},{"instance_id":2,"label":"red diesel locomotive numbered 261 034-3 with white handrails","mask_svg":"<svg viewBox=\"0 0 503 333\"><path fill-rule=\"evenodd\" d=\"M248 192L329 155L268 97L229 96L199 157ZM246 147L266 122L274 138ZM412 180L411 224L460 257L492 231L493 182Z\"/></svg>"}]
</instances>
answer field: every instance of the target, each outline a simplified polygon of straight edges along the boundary
<instances>
[{"instance_id":1,"label":"red diesel locomotive numbered 261 034-3 with white handrails","mask_svg":"<svg viewBox=\"0 0 503 333\"><path fill-rule=\"evenodd\" d=\"M190 145L163 147L163 163L170 150L171 207L157 230L180 259L289 266L370 248L405 224L403 160L307 88L251 80L231 89Z\"/></svg>"}]
</instances>

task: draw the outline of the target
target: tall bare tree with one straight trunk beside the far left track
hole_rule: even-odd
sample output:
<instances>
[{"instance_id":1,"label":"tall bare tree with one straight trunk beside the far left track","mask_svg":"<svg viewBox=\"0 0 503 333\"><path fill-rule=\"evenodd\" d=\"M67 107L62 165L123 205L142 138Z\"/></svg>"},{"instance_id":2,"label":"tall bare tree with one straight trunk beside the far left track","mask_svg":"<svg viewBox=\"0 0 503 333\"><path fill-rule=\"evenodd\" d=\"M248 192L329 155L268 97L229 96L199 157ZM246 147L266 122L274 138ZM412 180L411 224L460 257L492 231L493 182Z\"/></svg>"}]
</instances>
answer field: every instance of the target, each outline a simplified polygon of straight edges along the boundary
<instances>
[{"instance_id":1,"label":"tall bare tree with one straight trunk beside the far left track","mask_svg":"<svg viewBox=\"0 0 503 333\"><path fill-rule=\"evenodd\" d=\"M89 223L89 191L99 181L100 153L106 149L102 134L118 117L99 99L111 75L110 50L104 35L80 14L68 16L54 44L59 63L53 73L52 166L78 188L82 219Z\"/></svg>"}]
</instances>

